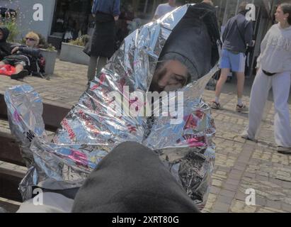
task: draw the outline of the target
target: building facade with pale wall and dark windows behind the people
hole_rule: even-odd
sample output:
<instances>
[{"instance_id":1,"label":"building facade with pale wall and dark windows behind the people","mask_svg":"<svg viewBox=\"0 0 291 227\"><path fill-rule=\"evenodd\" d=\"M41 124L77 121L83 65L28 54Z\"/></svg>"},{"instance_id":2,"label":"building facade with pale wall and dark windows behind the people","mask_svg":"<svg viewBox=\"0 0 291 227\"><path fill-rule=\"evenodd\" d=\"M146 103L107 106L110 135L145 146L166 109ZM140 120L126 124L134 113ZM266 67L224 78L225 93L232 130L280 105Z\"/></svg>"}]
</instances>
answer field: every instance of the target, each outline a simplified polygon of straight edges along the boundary
<instances>
[{"instance_id":1,"label":"building facade with pale wall and dark windows behind the people","mask_svg":"<svg viewBox=\"0 0 291 227\"><path fill-rule=\"evenodd\" d=\"M177 0L177 5L198 3L202 0ZM212 0L217 9L217 20L222 28L227 20L234 16L239 4L243 0ZM166 0L121 0L122 18L120 21L129 20L126 15L139 18L142 24L152 20L156 7L167 2ZM274 23L276 5L279 0L249 0L256 6L256 20L253 21L253 40L256 46L249 53L249 69L253 68L256 57L260 52L260 43L266 31ZM80 35L91 34L93 31L93 17L91 5L93 0L0 0L0 9L13 9L18 13L17 23L20 36L23 37L28 31L36 31L46 37L49 43L57 48L65 38L76 38ZM42 21L35 21L37 6L42 5ZM132 20L132 16L130 20ZM124 23L120 22L124 26ZM249 71L247 74L251 75Z\"/></svg>"}]
</instances>

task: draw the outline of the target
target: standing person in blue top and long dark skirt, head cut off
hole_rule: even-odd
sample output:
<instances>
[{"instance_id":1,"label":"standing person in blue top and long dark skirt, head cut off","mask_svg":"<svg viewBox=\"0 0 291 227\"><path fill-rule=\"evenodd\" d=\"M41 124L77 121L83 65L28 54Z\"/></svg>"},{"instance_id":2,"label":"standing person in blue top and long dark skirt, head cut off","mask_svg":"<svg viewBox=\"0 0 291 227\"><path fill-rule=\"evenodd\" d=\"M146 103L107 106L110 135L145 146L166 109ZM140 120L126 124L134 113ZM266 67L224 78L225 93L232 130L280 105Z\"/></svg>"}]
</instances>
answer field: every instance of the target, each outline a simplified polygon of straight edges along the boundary
<instances>
[{"instance_id":1,"label":"standing person in blue top and long dark skirt, head cut off","mask_svg":"<svg viewBox=\"0 0 291 227\"><path fill-rule=\"evenodd\" d=\"M94 0L92 14L96 25L89 51L89 82L101 72L115 51L115 21L120 15L120 0Z\"/></svg>"}]
</instances>

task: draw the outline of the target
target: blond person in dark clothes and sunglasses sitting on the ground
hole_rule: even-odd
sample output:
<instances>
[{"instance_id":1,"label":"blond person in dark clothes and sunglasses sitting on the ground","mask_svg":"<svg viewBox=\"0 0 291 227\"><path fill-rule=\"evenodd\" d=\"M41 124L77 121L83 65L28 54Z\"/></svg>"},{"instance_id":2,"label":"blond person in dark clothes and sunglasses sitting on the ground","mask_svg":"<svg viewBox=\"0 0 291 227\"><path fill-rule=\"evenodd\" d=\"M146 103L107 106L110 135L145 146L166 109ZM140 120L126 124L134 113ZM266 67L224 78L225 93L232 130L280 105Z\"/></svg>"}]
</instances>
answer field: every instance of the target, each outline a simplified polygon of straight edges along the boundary
<instances>
[{"instance_id":1,"label":"blond person in dark clothes and sunglasses sitting on the ground","mask_svg":"<svg viewBox=\"0 0 291 227\"><path fill-rule=\"evenodd\" d=\"M11 46L11 55L4 57L0 62L0 67L3 65L16 67L16 74L12 74L11 79L21 79L30 73L44 72L44 64L39 64L39 61L44 61L40 49L37 48L39 41L38 34L30 32L25 35L26 45Z\"/></svg>"}]
</instances>

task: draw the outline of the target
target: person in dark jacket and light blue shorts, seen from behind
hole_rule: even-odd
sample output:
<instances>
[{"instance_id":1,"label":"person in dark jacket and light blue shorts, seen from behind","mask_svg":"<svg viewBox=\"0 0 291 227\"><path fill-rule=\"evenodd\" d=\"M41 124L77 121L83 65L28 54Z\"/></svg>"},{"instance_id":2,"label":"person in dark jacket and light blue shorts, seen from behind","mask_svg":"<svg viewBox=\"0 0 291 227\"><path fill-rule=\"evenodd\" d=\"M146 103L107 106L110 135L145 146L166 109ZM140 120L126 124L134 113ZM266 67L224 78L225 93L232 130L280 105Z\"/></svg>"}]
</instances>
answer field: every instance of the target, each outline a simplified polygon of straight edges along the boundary
<instances>
[{"instance_id":1,"label":"person in dark jacket and light blue shorts, seen from behind","mask_svg":"<svg viewBox=\"0 0 291 227\"><path fill-rule=\"evenodd\" d=\"M239 13L227 21L224 33L222 35L222 58L220 60L221 74L215 90L215 100L212 101L212 109L221 109L219 96L222 87L227 81L227 76L232 70L236 72L237 77L237 96L238 101L236 111L248 111L241 98L244 92L244 70L246 63L246 48L251 45L253 38L253 26L251 21L246 20L246 1L239 6Z\"/></svg>"}]
</instances>

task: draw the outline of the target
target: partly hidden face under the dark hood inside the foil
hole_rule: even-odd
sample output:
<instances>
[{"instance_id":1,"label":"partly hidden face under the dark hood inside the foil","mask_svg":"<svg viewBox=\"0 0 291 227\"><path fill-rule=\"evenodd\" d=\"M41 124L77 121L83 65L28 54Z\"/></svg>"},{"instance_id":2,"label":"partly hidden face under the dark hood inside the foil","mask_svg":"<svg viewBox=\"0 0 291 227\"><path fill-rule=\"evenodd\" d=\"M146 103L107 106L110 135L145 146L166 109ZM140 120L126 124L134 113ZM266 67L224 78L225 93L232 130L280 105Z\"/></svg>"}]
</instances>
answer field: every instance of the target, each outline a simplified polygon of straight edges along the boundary
<instances>
[{"instance_id":1,"label":"partly hidden face under the dark hood inside the foil","mask_svg":"<svg viewBox=\"0 0 291 227\"><path fill-rule=\"evenodd\" d=\"M188 81L188 70L178 60L169 60L156 69L152 79L151 92L174 92Z\"/></svg>"}]
</instances>

